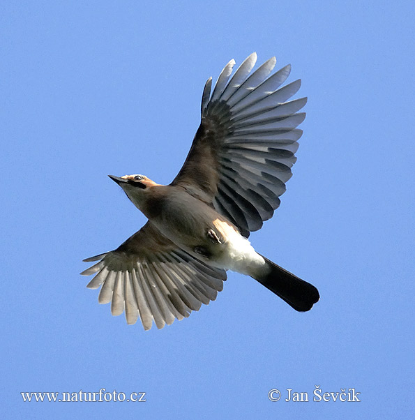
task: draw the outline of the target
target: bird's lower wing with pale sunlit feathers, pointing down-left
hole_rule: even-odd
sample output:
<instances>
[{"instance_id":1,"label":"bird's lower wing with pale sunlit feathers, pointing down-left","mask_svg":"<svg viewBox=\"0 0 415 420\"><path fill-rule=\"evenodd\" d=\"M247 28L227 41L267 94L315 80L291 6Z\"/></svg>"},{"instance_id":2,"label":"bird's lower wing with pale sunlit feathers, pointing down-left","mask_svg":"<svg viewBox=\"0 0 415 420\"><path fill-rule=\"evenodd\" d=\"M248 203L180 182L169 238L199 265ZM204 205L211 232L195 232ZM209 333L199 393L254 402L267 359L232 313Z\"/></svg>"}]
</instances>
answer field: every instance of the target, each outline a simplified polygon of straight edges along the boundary
<instances>
[{"instance_id":1,"label":"bird's lower wing with pale sunlit feathers, pointing down-left","mask_svg":"<svg viewBox=\"0 0 415 420\"><path fill-rule=\"evenodd\" d=\"M87 285L101 287L98 301L111 302L112 315L126 311L128 324L138 317L144 329L154 320L158 329L182 320L202 303L216 299L226 273L209 267L174 245L151 222L128 238L119 248L86 262L98 261L82 271L96 276Z\"/></svg>"}]
</instances>

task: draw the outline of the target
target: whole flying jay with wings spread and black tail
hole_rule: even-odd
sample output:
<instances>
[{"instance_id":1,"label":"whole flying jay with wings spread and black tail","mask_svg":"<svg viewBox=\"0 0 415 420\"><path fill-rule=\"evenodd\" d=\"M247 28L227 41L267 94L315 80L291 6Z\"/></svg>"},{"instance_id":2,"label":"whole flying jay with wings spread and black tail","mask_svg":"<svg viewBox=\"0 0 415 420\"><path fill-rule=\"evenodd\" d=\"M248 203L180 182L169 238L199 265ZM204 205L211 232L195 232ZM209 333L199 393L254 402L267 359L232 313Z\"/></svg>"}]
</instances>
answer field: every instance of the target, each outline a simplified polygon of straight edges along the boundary
<instances>
[{"instance_id":1,"label":"whole flying jay with wings spread and black tail","mask_svg":"<svg viewBox=\"0 0 415 420\"><path fill-rule=\"evenodd\" d=\"M146 224L118 248L89 257L86 287L100 288L112 315L141 320L144 330L183 320L209 304L236 271L257 280L299 312L319 301L314 285L257 253L248 237L280 205L305 119L307 98L289 100L301 80L284 84L291 66L276 57L252 70L234 59L202 94L201 122L188 156L169 185L142 174L109 175L144 213Z\"/></svg>"}]
</instances>

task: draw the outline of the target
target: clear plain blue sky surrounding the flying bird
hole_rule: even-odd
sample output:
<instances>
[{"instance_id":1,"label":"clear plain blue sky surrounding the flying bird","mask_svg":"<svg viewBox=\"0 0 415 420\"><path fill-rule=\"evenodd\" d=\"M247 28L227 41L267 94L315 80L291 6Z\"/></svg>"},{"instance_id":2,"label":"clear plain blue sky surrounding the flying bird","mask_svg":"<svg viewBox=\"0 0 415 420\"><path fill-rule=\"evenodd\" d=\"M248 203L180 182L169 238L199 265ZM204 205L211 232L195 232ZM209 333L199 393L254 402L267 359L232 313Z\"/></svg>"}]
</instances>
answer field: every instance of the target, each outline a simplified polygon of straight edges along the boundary
<instances>
[{"instance_id":1,"label":"clear plain blue sky surrounding the flying bird","mask_svg":"<svg viewBox=\"0 0 415 420\"><path fill-rule=\"evenodd\" d=\"M3 0L2 418L409 418L414 14L412 1ZM107 174L169 183L204 82L252 51L291 63L309 100L294 177L250 239L321 300L296 313L231 273L187 320L128 327L79 276L145 221ZM313 402L315 385L361 402ZM101 388L146 403L20 395Z\"/></svg>"}]
</instances>

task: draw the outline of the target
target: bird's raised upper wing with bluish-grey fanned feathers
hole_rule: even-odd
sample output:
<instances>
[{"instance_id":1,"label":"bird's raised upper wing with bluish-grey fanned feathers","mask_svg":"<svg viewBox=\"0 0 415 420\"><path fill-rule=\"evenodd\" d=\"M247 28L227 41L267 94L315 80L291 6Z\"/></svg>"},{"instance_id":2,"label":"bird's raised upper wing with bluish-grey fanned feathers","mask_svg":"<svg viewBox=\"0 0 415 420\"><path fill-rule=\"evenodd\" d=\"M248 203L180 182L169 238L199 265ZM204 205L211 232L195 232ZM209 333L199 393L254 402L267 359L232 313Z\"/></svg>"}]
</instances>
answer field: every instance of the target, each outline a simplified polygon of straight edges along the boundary
<instances>
[{"instance_id":1,"label":"bird's raised upper wing with bluish-grey fanned feathers","mask_svg":"<svg viewBox=\"0 0 415 420\"><path fill-rule=\"evenodd\" d=\"M285 102L301 86L296 80L280 87L291 66L269 76L276 64L273 57L251 73L256 60L251 54L232 77L235 61L229 61L212 94L212 79L206 82L202 122L172 182L212 202L246 237L280 205L278 197L292 176L296 141L303 133L296 126L305 113L297 111L307 102L307 98Z\"/></svg>"}]
</instances>

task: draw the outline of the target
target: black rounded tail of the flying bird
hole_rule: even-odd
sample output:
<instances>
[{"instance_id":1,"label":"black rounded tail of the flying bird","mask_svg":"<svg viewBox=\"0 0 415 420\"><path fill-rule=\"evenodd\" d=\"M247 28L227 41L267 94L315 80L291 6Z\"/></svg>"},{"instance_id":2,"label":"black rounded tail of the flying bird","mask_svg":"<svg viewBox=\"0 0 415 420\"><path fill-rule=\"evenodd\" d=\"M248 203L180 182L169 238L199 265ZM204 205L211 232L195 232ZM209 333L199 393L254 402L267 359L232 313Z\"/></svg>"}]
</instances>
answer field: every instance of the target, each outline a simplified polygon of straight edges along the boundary
<instances>
[{"instance_id":1,"label":"black rounded tail of the flying bird","mask_svg":"<svg viewBox=\"0 0 415 420\"><path fill-rule=\"evenodd\" d=\"M316 287L262 257L269 264L271 272L261 278L255 277L255 280L300 312L310 310L314 303L319 301L319 291Z\"/></svg>"}]
</instances>

